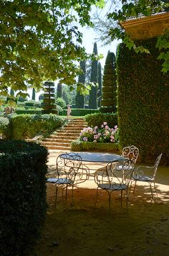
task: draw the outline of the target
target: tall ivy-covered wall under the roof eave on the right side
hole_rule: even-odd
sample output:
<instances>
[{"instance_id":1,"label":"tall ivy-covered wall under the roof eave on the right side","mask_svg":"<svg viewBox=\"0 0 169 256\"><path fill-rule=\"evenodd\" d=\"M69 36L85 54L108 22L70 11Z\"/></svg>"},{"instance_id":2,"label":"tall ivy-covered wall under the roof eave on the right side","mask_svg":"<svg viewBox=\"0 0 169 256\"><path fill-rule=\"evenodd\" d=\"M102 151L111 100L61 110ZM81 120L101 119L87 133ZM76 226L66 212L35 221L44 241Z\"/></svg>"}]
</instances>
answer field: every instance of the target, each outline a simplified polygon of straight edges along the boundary
<instances>
[{"instance_id":1,"label":"tall ivy-covered wall under the roof eave on the right side","mask_svg":"<svg viewBox=\"0 0 169 256\"><path fill-rule=\"evenodd\" d=\"M135 145L141 160L163 153L169 161L169 74L161 72L156 39L141 42L150 54L117 49L117 111L120 145Z\"/></svg>"}]
</instances>

